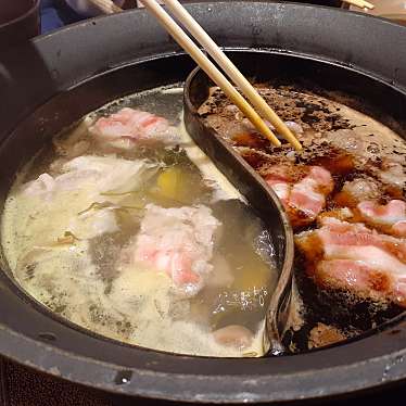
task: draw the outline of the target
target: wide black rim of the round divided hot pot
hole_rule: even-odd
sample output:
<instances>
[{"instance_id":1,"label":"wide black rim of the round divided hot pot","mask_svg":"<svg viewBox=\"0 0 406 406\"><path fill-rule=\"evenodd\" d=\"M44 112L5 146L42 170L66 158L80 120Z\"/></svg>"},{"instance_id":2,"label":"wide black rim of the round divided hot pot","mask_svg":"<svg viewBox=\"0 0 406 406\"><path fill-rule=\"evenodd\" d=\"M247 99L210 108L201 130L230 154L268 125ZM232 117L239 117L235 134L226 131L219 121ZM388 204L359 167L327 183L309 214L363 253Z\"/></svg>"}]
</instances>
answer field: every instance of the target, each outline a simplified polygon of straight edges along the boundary
<instances>
[{"instance_id":1,"label":"wide black rim of the round divided hot pot","mask_svg":"<svg viewBox=\"0 0 406 406\"><path fill-rule=\"evenodd\" d=\"M389 94L397 94L394 110L404 112L404 27L360 14L287 3L202 3L189 9L228 49L295 54L357 71L382 83ZM165 59L168 64L163 63ZM131 80L137 77L142 84L137 83L136 88L160 86L185 78L193 66L143 11L67 27L34 40L18 53L2 54L0 60L2 199L15 169L52 129L72 123L107 98L131 92ZM144 60L150 61L134 65ZM107 71L112 72L104 80ZM128 80L127 89L120 88L123 79L115 81L120 75ZM29 137L34 134L36 137ZM18 142L22 139L24 143ZM406 378L403 317L364 340L319 352L211 359L119 345L72 329L24 294L16 294L5 276L0 292L2 355L111 392L190 402L278 402L350 394Z\"/></svg>"}]
</instances>

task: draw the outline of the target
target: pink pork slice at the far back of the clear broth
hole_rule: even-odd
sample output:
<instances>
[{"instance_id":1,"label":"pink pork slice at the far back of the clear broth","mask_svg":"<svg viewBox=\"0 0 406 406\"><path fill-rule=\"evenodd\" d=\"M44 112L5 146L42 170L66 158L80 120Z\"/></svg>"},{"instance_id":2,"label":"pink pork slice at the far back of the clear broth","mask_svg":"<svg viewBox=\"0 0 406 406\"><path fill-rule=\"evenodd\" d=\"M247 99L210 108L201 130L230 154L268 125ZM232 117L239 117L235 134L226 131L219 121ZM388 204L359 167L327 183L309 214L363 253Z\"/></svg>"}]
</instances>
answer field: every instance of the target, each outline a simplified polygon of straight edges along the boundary
<instances>
[{"instance_id":1,"label":"pink pork slice at the far back of the clear broth","mask_svg":"<svg viewBox=\"0 0 406 406\"><path fill-rule=\"evenodd\" d=\"M129 107L99 118L89 128L97 141L112 147L130 149L139 142L174 142L176 130L166 118Z\"/></svg>"}]
</instances>

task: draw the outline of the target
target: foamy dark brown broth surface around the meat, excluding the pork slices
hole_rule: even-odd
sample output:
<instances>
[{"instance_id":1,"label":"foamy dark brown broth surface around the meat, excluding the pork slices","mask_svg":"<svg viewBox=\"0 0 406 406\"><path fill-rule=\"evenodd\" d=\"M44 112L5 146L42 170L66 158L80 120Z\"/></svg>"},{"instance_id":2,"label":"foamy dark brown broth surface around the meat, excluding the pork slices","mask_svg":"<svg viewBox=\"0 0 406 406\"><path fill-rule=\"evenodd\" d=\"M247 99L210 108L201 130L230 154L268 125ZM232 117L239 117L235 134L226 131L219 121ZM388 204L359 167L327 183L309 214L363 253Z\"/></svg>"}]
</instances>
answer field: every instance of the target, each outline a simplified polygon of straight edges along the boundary
<instances>
[{"instance_id":1,"label":"foamy dark brown broth surface around the meat, excluding the pork slices","mask_svg":"<svg viewBox=\"0 0 406 406\"><path fill-rule=\"evenodd\" d=\"M403 174L406 176L406 149L403 141L393 138L388 143L381 143L371 131L363 136L363 142L367 144L364 145L365 151L368 152L365 156L356 150L359 147L357 140L354 141L354 152L348 153L351 144L338 145L329 135L334 135L334 131L338 131L337 137L343 135L343 138L351 131L356 135L359 128L366 126L363 118L354 123L346 116L345 106L310 91L297 91L293 86L255 86L283 120L293 120L302 126L304 132L297 135L304 147L302 153L293 151L284 140L281 140L282 145L279 148L271 145L218 89L212 89L211 97L199 112L204 123L228 140L262 176L266 177L274 165L283 163L295 165L297 170L302 165L322 166L334 180L334 190L328 195L323 212L345 206L343 196L341 201L334 196L339 196L346 181L359 178L372 179L379 185L382 191L381 204L391 199L406 200L406 183L388 185L380 178L381 172L385 169L385 160L393 156L397 156L397 162L403 164ZM351 142L353 140L348 137L347 143ZM315 227L313 223L305 228L297 228L295 232ZM392 303L365 300L347 291L322 289L306 276L304 264L304 258L297 253L295 279L300 292L300 315L284 337L284 344L292 352L308 351L310 347L356 337L403 312Z\"/></svg>"}]
</instances>

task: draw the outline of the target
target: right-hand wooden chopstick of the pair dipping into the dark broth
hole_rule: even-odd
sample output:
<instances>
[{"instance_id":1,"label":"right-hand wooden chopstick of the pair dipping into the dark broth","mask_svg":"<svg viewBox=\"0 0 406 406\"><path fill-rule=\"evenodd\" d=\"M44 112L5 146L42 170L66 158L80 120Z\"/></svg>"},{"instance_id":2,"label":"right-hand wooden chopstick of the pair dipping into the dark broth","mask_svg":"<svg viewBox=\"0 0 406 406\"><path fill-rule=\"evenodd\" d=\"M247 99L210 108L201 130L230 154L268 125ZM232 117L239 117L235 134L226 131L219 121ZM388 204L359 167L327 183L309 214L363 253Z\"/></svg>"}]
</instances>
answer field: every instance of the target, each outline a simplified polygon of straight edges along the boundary
<instances>
[{"instance_id":1,"label":"right-hand wooden chopstick of the pair dipping into the dark broth","mask_svg":"<svg viewBox=\"0 0 406 406\"><path fill-rule=\"evenodd\" d=\"M361 0L358 0L361 1ZM249 99L252 105L267 119L275 129L283 136L295 150L301 150L302 145L287 127L287 125L278 117L274 110L258 94L255 88L241 74L237 66L228 59L228 56L217 47L208 34L199 25L199 23L189 14L189 12L179 3L178 0L164 0L164 3L170 12L178 18L185 28L198 40L198 42L207 51L215 60L228 77L238 86L242 93Z\"/></svg>"}]
</instances>

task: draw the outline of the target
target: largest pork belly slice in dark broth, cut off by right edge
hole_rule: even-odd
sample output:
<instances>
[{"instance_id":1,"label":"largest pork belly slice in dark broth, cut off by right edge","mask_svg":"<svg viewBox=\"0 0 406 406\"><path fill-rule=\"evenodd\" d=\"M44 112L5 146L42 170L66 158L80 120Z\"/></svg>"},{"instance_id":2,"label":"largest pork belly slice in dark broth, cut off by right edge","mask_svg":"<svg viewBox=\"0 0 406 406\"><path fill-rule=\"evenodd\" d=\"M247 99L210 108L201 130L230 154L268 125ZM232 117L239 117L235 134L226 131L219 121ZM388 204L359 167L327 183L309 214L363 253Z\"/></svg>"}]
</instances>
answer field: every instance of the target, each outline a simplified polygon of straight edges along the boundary
<instances>
[{"instance_id":1,"label":"largest pork belly slice in dark broth, cut off by right edge","mask_svg":"<svg viewBox=\"0 0 406 406\"><path fill-rule=\"evenodd\" d=\"M295 237L306 271L319 286L406 307L406 241L363 224L323 217Z\"/></svg>"}]
</instances>

